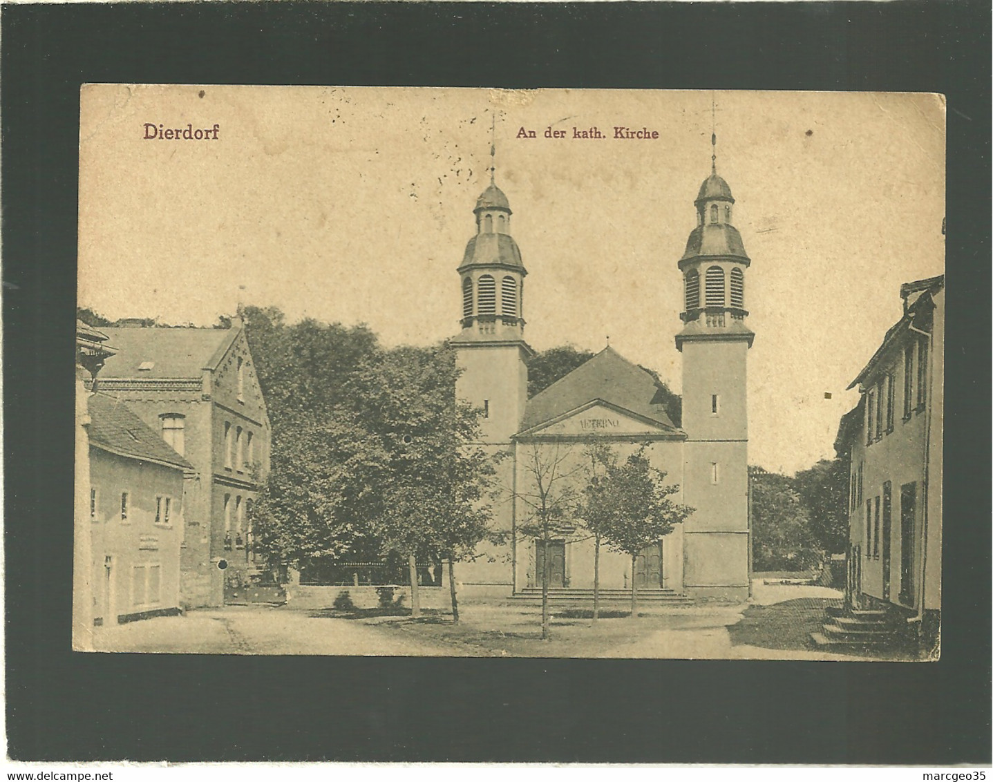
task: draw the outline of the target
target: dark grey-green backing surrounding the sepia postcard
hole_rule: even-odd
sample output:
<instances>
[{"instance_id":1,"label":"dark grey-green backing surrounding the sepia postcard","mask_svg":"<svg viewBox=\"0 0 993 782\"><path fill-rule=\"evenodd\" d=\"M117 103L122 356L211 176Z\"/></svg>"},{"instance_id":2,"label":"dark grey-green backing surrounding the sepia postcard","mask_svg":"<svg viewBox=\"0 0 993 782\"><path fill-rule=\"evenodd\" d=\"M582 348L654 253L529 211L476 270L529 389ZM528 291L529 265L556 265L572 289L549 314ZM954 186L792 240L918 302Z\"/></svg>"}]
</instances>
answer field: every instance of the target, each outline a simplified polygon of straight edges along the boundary
<instances>
[{"instance_id":1,"label":"dark grey-green backing surrounding the sepia postcard","mask_svg":"<svg viewBox=\"0 0 993 782\"><path fill-rule=\"evenodd\" d=\"M990 760L988 3L5 5L2 25L13 758ZM71 653L85 81L945 93L940 662ZM855 317L845 302L836 314Z\"/></svg>"}]
</instances>

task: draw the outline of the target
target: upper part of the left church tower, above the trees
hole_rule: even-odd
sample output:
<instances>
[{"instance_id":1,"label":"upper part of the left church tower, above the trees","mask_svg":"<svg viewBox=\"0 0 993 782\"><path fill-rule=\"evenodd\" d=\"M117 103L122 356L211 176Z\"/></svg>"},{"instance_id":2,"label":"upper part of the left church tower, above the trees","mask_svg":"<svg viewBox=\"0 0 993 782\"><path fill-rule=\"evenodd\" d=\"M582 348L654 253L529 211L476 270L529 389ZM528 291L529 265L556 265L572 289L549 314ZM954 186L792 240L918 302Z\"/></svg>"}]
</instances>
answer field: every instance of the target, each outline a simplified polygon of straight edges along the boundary
<instances>
[{"instance_id":1,"label":"upper part of the left church tower, above the trees","mask_svg":"<svg viewBox=\"0 0 993 782\"><path fill-rule=\"evenodd\" d=\"M486 444L508 446L527 403L524 269L510 235L510 204L491 179L476 201L476 235L459 266L462 331L451 340L463 368L456 394L483 411Z\"/></svg>"}]
</instances>

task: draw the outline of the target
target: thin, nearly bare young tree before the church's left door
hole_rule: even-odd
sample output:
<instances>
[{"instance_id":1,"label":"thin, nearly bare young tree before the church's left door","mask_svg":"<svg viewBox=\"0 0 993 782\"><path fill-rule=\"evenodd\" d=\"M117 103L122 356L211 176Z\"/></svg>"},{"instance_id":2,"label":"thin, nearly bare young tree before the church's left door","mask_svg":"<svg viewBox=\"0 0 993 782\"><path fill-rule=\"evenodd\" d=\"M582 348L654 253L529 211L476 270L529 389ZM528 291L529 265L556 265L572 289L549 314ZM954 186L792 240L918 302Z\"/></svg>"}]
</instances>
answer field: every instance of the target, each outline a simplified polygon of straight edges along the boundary
<instances>
[{"instance_id":1,"label":"thin, nearly bare young tree before the church's left door","mask_svg":"<svg viewBox=\"0 0 993 782\"><path fill-rule=\"evenodd\" d=\"M559 443L531 443L519 446L525 451L521 465L526 474L524 487L514 495L523 505L517 527L525 537L541 547L541 638L549 637L548 587L551 579L551 558L548 544L562 535L571 534L569 521L580 503L580 494L573 477L584 468L573 461L572 449Z\"/></svg>"}]
</instances>

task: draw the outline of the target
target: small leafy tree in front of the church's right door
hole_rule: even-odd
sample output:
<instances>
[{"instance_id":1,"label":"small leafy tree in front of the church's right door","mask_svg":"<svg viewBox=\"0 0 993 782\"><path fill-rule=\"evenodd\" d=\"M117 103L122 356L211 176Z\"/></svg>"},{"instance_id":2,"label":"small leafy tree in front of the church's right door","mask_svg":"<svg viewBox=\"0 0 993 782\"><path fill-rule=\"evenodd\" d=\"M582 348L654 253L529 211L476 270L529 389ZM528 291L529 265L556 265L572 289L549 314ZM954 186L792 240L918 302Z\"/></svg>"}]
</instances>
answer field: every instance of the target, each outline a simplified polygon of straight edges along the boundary
<instances>
[{"instance_id":1,"label":"small leafy tree in front of the church's right door","mask_svg":"<svg viewBox=\"0 0 993 782\"><path fill-rule=\"evenodd\" d=\"M693 508L669 499L679 486L662 482L665 473L651 466L644 447L623 462L606 462L605 467L604 485L593 495L596 508L592 515L599 519L607 547L631 557L631 616L637 619L638 554L672 532Z\"/></svg>"}]
</instances>

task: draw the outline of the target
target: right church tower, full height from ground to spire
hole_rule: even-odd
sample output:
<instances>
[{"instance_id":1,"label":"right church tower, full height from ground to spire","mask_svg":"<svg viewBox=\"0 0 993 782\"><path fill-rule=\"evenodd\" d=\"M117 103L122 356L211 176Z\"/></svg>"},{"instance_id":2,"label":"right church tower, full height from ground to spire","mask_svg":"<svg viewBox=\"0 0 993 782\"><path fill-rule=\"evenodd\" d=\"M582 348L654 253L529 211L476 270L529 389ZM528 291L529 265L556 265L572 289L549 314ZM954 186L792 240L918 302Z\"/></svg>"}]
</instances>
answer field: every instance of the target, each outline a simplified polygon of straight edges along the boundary
<instances>
[{"instance_id":1,"label":"right church tower, full height from ground to spire","mask_svg":"<svg viewBox=\"0 0 993 782\"><path fill-rule=\"evenodd\" d=\"M711 137L716 145L716 136ZM745 275L751 260L733 223L735 199L717 174L694 201L696 227L679 261L682 352L684 586L701 596L748 596L748 410Z\"/></svg>"}]
</instances>

